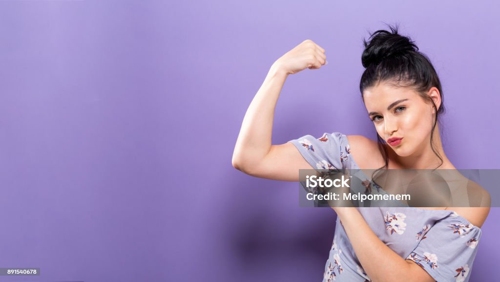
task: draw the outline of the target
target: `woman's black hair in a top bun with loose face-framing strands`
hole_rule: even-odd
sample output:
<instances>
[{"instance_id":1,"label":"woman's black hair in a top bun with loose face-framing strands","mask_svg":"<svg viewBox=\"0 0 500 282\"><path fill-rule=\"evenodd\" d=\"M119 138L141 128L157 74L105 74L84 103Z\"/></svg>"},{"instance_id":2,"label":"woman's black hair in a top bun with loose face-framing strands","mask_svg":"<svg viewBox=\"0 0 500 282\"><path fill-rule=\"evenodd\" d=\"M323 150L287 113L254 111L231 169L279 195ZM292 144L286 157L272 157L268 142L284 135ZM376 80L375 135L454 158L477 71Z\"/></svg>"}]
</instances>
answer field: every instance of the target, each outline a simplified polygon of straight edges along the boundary
<instances>
[{"instance_id":1,"label":"woman's black hair in a top bun with loose face-framing strands","mask_svg":"<svg viewBox=\"0 0 500 282\"><path fill-rule=\"evenodd\" d=\"M439 165L441 166L443 164L442 158L432 146L432 138L438 116L444 114L441 83L429 59L424 54L418 52L418 47L414 42L409 37L399 35L397 33L397 25L396 27L388 26L390 32L378 30L370 35L368 43L363 39L364 51L361 55L361 63L365 70L359 82L361 98L364 102L363 91L383 82L396 87L411 88L424 101L430 102L436 113L430 133L430 146L434 154L441 160L441 164ZM427 95L427 91L431 87L439 90L441 105L438 110L434 101ZM387 148L383 146L384 141L378 133L377 142L378 149L385 160L385 165L376 171L388 166Z\"/></svg>"}]
</instances>

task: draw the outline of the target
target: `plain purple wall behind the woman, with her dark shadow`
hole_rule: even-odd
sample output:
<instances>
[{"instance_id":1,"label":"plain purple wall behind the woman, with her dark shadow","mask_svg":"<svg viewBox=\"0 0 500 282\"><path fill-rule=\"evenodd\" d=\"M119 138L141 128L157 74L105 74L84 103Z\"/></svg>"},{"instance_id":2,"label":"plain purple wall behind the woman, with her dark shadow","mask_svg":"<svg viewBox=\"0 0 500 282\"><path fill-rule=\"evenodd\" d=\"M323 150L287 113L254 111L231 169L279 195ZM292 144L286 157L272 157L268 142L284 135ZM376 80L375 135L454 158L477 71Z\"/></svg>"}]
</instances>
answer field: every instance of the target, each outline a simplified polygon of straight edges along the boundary
<instances>
[{"instance_id":1,"label":"plain purple wall behind the woman, with her dark shadow","mask_svg":"<svg viewBox=\"0 0 500 282\"><path fill-rule=\"evenodd\" d=\"M496 1L1 1L0 281L320 281L330 209L231 166L270 65L305 39L328 65L288 77L273 144L375 138L362 38L401 24L440 76L457 168L500 168ZM470 281L496 276L492 208Z\"/></svg>"}]
</instances>

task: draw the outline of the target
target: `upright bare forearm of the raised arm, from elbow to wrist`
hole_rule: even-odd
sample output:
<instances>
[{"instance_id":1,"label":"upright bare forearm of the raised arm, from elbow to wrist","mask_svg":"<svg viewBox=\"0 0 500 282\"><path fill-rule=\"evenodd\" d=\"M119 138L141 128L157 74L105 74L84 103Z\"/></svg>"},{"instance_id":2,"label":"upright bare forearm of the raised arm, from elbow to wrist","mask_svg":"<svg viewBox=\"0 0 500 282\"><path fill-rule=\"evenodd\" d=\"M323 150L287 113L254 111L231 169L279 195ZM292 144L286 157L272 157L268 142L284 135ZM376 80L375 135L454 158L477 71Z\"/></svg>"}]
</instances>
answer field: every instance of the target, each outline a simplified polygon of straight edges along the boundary
<instances>
[{"instance_id":1,"label":"upright bare forearm of the raised arm, from elbow to wrist","mask_svg":"<svg viewBox=\"0 0 500 282\"><path fill-rule=\"evenodd\" d=\"M271 148L274 109L288 74L273 64L246 110L232 155L233 166L258 164Z\"/></svg>"}]
</instances>

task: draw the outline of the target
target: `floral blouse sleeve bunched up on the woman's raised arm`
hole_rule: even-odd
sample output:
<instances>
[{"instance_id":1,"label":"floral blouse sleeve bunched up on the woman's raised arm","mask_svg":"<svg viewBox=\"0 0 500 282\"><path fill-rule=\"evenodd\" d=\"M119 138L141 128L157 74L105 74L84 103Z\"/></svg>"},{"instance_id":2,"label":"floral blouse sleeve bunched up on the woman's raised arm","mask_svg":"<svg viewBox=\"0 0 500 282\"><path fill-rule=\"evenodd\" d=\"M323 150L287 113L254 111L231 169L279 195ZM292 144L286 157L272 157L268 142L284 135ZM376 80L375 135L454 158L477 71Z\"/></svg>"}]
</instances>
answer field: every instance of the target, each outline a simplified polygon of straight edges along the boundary
<instances>
[{"instance_id":1,"label":"floral blouse sleeve bunched up on the woman's raised arm","mask_svg":"<svg viewBox=\"0 0 500 282\"><path fill-rule=\"evenodd\" d=\"M324 133L320 138L304 135L288 141L314 169L343 170L351 168L347 137L340 132Z\"/></svg>"}]
</instances>

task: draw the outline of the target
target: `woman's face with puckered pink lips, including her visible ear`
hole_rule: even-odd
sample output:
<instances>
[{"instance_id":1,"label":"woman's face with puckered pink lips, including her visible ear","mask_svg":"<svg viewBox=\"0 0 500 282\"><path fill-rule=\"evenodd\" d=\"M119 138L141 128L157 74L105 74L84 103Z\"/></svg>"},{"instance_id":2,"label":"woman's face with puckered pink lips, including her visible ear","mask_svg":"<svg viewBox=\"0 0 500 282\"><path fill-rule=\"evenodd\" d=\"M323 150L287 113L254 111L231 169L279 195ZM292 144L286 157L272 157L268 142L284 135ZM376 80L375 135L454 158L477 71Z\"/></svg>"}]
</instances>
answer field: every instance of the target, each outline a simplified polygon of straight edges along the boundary
<instances>
[{"instance_id":1,"label":"woman's face with puckered pink lips, including her visible ear","mask_svg":"<svg viewBox=\"0 0 500 282\"><path fill-rule=\"evenodd\" d=\"M438 90L432 87L428 95L439 108ZM434 122L432 105L410 88L394 87L386 83L363 91L364 105L378 135L394 152L402 157L422 152L429 146ZM401 138L394 143L391 138Z\"/></svg>"}]
</instances>

